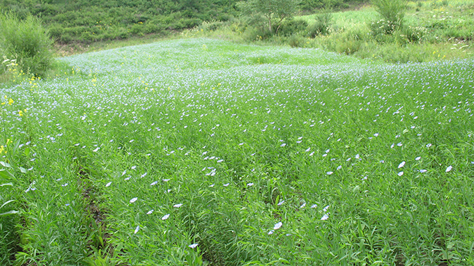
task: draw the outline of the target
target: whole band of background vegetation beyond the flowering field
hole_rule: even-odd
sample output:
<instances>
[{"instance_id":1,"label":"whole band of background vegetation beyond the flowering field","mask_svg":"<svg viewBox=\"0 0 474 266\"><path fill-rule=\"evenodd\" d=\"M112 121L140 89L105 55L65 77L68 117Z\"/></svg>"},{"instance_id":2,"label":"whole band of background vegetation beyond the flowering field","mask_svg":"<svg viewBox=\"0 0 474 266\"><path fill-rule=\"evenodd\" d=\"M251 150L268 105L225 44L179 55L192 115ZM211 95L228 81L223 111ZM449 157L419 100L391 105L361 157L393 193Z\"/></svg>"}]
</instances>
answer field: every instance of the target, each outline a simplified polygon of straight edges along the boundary
<instances>
[{"instance_id":1,"label":"whole band of background vegetation beyond the flowering field","mask_svg":"<svg viewBox=\"0 0 474 266\"><path fill-rule=\"evenodd\" d=\"M291 12L270 19L269 30L265 14L248 8L257 2L290 3ZM40 18L58 56L183 37L318 47L392 63L473 52L473 1L0 0L0 8Z\"/></svg>"}]
</instances>

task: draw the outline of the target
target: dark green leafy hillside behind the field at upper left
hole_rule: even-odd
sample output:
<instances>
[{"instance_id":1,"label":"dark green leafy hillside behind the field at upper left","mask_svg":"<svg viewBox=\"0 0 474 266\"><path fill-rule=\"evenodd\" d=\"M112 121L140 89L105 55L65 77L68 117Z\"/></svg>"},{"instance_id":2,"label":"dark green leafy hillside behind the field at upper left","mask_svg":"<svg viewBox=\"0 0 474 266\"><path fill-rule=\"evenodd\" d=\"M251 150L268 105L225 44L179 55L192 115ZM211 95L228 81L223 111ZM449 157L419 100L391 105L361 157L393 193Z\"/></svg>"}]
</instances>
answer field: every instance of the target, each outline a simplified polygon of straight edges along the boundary
<instances>
[{"instance_id":1,"label":"dark green leafy hillside behind the field at upper left","mask_svg":"<svg viewBox=\"0 0 474 266\"><path fill-rule=\"evenodd\" d=\"M2 10L41 17L56 42L116 40L163 31L181 31L203 21L237 15L235 0L39 1L1 0Z\"/></svg>"}]
</instances>

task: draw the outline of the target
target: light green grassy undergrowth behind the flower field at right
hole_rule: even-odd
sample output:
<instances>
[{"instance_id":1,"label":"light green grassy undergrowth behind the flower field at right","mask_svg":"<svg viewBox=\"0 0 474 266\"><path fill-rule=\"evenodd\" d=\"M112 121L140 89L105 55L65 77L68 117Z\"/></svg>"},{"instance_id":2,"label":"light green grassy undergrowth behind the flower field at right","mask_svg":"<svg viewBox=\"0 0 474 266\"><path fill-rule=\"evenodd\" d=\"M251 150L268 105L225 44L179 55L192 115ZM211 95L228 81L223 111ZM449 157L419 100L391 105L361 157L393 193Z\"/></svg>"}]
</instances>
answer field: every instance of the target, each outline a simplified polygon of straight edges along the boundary
<instances>
[{"instance_id":1,"label":"light green grassy undergrowth behind the flower field at right","mask_svg":"<svg viewBox=\"0 0 474 266\"><path fill-rule=\"evenodd\" d=\"M279 33L270 33L266 29L234 20L225 23L213 22L211 30L197 27L184 31L181 36L208 36L240 42L317 47L391 63L473 56L471 43L474 36L474 19L469 15L474 11L473 1L452 0L449 2L452 4L438 4L436 1L418 3L422 4L408 4L408 15L404 23L399 24L381 19L381 15L374 8L365 7L337 13L323 10L314 15L285 20ZM401 15L398 16L402 18Z\"/></svg>"}]
</instances>

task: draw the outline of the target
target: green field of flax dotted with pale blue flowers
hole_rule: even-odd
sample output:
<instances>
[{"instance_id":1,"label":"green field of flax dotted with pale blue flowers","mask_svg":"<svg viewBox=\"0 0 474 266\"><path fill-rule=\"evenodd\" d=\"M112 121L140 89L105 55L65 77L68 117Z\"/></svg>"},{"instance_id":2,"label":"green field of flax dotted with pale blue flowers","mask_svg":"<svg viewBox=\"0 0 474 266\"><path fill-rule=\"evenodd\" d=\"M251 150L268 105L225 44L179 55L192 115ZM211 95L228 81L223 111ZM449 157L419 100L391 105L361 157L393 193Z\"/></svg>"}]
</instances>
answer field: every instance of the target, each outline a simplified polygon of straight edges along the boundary
<instances>
[{"instance_id":1,"label":"green field of flax dotted with pale blue flowers","mask_svg":"<svg viewBox=\"0 0 474 266\"><path fill-rule=\"evenodd\" d=\"M17 263L474 265L470 59L189 39L59 61L0 87Z\"/></svg>"}]
</instances>

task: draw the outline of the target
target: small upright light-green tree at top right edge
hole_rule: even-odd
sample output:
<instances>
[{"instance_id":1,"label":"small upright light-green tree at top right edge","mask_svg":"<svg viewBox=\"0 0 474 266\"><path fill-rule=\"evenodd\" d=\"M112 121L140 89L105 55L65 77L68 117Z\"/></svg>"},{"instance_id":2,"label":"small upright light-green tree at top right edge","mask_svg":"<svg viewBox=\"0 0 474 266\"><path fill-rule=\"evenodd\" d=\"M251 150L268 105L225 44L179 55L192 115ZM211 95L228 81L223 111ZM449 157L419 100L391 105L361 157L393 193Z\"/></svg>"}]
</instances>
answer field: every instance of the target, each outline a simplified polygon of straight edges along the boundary
<instances>
[{"instance_id":1,"label":"small upright light-green tree at top right edge","mask_svg":"<svg viewBox=\"0 0 474 266\"><path fill-rule=\"evenodd\" d=\"M401 28L404 22L406 11L406 0L372 0L375 10L386 20L388 30L386 33L393 33Z\"/></svg>"}]
</instances>

